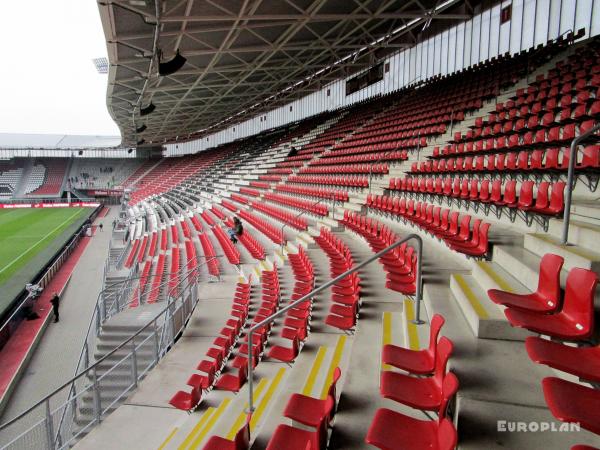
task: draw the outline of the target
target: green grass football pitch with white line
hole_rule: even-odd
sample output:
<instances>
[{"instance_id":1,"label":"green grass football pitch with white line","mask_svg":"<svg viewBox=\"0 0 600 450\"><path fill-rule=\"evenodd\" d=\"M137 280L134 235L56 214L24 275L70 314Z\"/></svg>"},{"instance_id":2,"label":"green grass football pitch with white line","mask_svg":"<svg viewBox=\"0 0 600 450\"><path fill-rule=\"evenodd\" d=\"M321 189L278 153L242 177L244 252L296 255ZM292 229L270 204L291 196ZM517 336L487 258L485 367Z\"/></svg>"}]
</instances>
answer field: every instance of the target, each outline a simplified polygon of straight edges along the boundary
<instances>
[{"instance_id":1,"label":"green grass football pitch with white line","mask_svg":"<svg viewBox=\"0 0 600 450\"><path fill-rule=\"evenodd\" d=\"M0 314L92 211L92 208L0 209Z\"/></svg>"}]
</instances>

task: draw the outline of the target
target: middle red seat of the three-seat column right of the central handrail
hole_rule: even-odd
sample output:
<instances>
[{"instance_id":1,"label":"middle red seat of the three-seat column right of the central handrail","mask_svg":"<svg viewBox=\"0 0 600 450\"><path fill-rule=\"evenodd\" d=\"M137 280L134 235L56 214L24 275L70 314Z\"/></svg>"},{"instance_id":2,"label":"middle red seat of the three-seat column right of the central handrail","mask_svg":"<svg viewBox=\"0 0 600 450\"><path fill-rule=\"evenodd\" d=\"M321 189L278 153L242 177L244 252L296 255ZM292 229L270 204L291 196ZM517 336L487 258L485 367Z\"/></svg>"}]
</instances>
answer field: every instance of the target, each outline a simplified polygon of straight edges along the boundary
<instances>
[{"instance_id":1,"label":"middle red seat of the three-seat column right of the central handrail","mask_svg":"<svg viewBox=\"0 0 600 450\"><path fill-rule=\"evenodd\" d=\"M446 366L452 353L452 341L442 337L438 342L433 375L419 378L399 372L381 372L380 393L382 397L425 411L439 410L443 402L442 386Z\"/></svg>"}]
</instances>

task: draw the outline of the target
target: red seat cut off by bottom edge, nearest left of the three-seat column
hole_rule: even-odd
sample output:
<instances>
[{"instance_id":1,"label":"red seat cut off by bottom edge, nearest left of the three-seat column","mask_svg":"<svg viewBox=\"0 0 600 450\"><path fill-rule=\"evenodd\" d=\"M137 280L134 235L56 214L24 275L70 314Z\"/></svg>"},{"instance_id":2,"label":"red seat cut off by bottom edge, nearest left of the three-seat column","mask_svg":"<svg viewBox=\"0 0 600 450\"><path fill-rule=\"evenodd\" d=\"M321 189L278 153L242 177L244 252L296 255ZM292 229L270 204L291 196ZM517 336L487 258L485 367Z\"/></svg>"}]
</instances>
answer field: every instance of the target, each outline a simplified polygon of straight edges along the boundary
<instances>
[{"instance_id":1,"label":"red seat cut off by bottom edge, nearest left of the three-seat column","mask_svg":"<svg viewBox=\"0 0 600 450\"><path fill-rule=\"evenodd\" d=\"M325 450L327 447L328 417L333 410L333 400L328 397L326 414L315 431L303 430L290 425L279 425L269 439L267 450Z\"/></svg>"}]
</instances>

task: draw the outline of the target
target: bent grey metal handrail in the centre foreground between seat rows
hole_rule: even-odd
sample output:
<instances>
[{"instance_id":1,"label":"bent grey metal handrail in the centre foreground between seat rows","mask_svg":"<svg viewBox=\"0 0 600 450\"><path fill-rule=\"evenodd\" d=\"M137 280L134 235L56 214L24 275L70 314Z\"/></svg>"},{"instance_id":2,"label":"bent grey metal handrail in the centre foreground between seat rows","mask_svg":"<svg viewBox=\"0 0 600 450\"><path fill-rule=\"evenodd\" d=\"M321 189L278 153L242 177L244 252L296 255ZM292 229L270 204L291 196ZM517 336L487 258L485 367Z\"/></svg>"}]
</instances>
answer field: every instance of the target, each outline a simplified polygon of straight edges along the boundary
<instances>
[{"instance_id":1,"label":"bent grey metal handrail in the centre foreground between seat rows","mask_svg":"<svg viewBox=\"0 0 600 450\"><path fill-rule=\"evenodd\" d=\"M384 248L383 250L375 253L374 255L371 255L369 258L367 258L366 260L364 260L363 262L361 262L360 264L352 267L351 269L345 271L344 273L338 275L337 277L333 278L332 280L329 280L327 283L322 284L321 286L319 286L318 288L313 289L312 291L310 291L308 294L300 297L298 300L290 303L289 305L281 308L280 310L278 310L276 313L270 315L269 317L267 317L266 319L262 320L261 322L253 325L250 330L248 330L248 355L253 355L252 353L252 335L254 334L254 332L256 330L258 330L259 328L264 327L265 325L267 325L268 323L273 322L276 318L278 318L279 316L281 316L283 313L289 311L292 308L295 308L297 305L299 305L300 303L304 303L306 301L309 301L312 297L314 297L316 294L318 294L319 292L329 288L330 286L333 286L334 284L336 284L338 281L343 280L344 278L346 278L348 275L352 275L353 273L357 272L359 269L362 269L363 267L365 267L366 265L372 263L373 261L379 259L381 256L385 255L386 253L390 252L391 250L395 249L396 247L399 247L400 245L402 245L403 243L414 239L417 241L417 280L416 280L416 292L415 292L415 302L416 302L416 317L413 320L414 324L417 325L421 325L424 324L425 321L421 320L420 318L420 314L421 314L421 300L422 300L422 280L421 280L421 267L422 267L422 263L423 263L423 239L421 238L421 236L419 236L418 234L415 233L411 233L405 237L403 237L402 239L397 240L396 242L394 242L392 245ZM254 362L254 358L252 358L251 356L248 357L248 412L251 413L254 411L254 403L253 403L253 385L252 385L252 374L253 374L253 362Z\"/></svg>"}]
</instances>

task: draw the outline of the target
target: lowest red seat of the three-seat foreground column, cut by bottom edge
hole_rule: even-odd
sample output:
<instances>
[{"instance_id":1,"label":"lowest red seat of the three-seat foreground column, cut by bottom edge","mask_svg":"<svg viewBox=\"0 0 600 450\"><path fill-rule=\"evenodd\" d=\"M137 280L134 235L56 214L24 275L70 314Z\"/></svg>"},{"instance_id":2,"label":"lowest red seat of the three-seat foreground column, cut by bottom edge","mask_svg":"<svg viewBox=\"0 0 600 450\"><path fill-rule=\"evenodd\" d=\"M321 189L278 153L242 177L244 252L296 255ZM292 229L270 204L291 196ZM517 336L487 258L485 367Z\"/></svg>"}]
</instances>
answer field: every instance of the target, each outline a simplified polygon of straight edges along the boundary
<instances>
[{"instance_id":1,"label":"lowest red seat of the three-seat foreground column, cut by bottom edge","mask_svg":"<svg viewBox=\"0 0 600 450\"><path fill-rule=\"evenodd\" d=\"M382 450L455 449L458 440L456 429L446 415L448 403L457 391L458 379L449 373L442 385L442 401L438 417L434 420L415 419L387 408L378 409L365 442Z\"/></svg>"}]
</instances>

